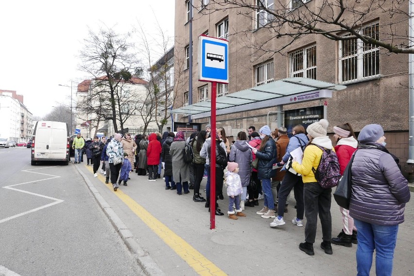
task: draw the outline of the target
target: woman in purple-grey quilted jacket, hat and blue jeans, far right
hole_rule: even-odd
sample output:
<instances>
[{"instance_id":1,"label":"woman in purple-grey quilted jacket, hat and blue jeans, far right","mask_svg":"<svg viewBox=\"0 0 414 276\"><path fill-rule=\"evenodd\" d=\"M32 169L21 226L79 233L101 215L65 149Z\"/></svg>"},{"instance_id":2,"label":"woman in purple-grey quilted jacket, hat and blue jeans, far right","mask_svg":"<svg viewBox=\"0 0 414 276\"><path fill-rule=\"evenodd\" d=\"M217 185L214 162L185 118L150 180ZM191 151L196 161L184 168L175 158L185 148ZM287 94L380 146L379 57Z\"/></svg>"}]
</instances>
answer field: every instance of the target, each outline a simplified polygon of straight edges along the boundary
<instances>
[{"instance_id":1,"label":"woman in purple-grey quilted jacket, hat and blue jeans, far right","mask_svg":"<svg viewBox=\"0 0 414 276\"><path fill-rule=\"evenodd\" d=\"M377 275L392 275L398 224L404 222L405 204L410 200L408 182L385 149L379 124L364 126L358 141L349 204L358 229L358 275L369 275L374 249Z\"/></svg>"}]
</instances>

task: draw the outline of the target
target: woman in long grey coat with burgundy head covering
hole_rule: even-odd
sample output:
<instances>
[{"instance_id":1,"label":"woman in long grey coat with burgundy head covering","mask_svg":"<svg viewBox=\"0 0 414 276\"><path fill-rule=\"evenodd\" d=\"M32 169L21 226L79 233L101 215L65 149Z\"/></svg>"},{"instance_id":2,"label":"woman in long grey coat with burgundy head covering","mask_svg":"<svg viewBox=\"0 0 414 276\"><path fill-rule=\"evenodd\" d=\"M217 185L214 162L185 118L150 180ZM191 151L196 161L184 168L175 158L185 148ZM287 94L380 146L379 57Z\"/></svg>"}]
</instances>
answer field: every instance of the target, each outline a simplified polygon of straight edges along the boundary
<instances>
[{"instance_id":1,"label":"woman in long grey coat with burgundy head covering","mask_svg":"<svg viewBox=\"0 0 414 276\"><path fill-rule=\"evenodd\" d=\"M184 193L189 193L189 180L190 180L190 164L184 162L183 149L186 146L186 140L184 139L184 133L182 131L177 132L173 143L170 146L170 155L173 158L173 180L177 187L177 194L181 195L181 189Z\"/></svg>"}]
</instances>

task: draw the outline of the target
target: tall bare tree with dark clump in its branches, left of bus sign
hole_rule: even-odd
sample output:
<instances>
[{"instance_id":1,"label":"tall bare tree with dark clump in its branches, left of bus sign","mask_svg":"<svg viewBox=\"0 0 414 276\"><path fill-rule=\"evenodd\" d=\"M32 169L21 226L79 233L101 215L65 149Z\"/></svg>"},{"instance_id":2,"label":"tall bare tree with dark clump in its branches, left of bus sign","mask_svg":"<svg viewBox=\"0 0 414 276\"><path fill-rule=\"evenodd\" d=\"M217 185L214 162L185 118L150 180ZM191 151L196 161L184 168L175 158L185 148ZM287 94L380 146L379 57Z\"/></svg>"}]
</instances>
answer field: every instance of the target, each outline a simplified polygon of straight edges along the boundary
<instances>
[{"instance_id":1,"label":"tall bare tree with dark clump in its branches, left of bus sign","mask_svg":"<svg viewBox=\"0 0 414 276\"><path fill-rule=\"evenodd\" d=\"M97 125L110 120L118 132L141 108L134 85L143 85L137 78L142 68L129 33L118 35L111 29L101 29L97 34L89 30L88 36L80 52L80 69L92 78L87 93L77 103L78 117L96 121Z\"/></svg>"}]
</instances>

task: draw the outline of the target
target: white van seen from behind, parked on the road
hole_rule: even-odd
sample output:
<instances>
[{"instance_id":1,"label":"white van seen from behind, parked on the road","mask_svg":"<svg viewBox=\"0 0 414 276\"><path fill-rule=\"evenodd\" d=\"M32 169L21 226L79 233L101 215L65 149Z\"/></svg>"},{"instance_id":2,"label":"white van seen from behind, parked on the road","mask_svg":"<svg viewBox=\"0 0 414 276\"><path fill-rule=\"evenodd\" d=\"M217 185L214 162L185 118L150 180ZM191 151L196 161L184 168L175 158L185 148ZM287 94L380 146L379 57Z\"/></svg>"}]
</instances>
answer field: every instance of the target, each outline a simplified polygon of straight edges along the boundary
<instances>
[{"instance_id":1,"label":"white van seen from behind, parked on the road","mask_svg":"<svg viewBox=\"0 0 414 276\"><path fill-rule=\"evenodd\" d=\"M69 129L65 122L38 121L32 141L32 165L39 161L69 164Z\"/></svg>"}]
</instances>

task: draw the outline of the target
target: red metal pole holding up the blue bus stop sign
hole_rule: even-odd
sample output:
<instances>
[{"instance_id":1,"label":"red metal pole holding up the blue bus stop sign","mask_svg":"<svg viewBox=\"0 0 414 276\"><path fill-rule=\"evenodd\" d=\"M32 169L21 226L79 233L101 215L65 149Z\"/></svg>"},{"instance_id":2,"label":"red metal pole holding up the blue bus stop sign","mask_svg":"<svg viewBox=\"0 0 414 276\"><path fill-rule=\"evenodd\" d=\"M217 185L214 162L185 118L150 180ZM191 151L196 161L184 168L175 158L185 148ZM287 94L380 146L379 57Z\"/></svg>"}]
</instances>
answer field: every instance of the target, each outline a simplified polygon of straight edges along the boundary
<instances>
[{"instance_id":1,"label":"red metal pole holding up the blue bus stop sign","mask_svg":"<svg viewBox=\"0 0 414 276\"><path fill-rule=\"evenodd\" d=\"M210 229L216 228L216 97L217 83L211 83L211 140L210 140Z\"/></svg>"}]
</instances>

